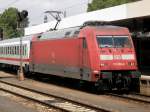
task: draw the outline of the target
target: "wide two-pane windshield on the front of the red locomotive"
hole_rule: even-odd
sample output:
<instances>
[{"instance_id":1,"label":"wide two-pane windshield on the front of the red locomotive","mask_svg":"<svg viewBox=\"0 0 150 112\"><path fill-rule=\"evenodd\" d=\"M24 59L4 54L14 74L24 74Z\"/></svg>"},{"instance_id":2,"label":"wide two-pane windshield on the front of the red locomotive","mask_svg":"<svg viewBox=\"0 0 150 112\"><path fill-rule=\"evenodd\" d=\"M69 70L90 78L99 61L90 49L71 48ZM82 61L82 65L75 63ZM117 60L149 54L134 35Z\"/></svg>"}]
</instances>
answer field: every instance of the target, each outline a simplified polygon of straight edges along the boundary
<instances>
[{"instance_id":1,"label":"wide two-pane windshield on the front of the red locomotive","mask_svg":"<svg viewBox=\"0 0 150 112\"><path fill-rule=\"evenodd\" d=\"M100 48L131 48L131 42L128 36L97 36L98 46Z\"/></svg>"}]
</instances>

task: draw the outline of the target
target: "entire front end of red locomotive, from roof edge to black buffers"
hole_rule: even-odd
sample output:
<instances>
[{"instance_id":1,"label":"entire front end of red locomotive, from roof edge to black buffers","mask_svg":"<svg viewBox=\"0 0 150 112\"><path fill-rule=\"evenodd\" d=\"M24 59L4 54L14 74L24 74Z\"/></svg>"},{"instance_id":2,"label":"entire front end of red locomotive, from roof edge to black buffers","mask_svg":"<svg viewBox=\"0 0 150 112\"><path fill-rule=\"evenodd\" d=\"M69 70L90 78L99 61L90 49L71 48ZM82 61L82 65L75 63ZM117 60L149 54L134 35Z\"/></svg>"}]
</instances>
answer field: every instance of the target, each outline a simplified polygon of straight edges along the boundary
<instances>
[{"instance_id":1,"label":"entire front end of red locomotive, from roof edge to black buffers","mask_svg":"<svg viewBox=\"0 0 150 112\"><path fill-rule=\"evenodd\" d=\"M95 39L93 45L91 35ZM92 80L95 80L97 89L140 91L141 74L137 71L134 45L127 28L107 25L95 27L93 34L88 34L86 39L93 70ZM96 50L93 50L94 44ZM83 57L87 58L86 55Z\"/></svg>"}]
</instances>

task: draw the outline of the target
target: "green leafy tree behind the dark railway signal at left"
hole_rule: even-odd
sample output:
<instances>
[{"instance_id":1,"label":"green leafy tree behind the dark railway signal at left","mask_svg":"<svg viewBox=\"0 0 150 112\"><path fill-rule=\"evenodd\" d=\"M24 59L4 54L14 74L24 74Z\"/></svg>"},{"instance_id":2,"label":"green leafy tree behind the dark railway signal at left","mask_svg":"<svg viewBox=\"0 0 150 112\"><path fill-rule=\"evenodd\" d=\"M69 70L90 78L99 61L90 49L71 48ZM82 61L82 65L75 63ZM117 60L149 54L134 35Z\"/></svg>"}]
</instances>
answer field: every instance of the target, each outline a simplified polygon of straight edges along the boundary
<instances>
[{"instance_id":1,"label":"green leafy tree behind the dark railway signal at left","mask_svg":"<svg viewBox=\"0 0 150 112\"><path fill-rule=\"evenodd\" d=\"M0 15L0 27L3 29L4 39L15 38L23 35L23 29L18 28L18 9L8 8ZM22 25L23 24L23 25ZM21 26L27 27L28 18L23 21Z\"/></svg>"}]
</instances>

